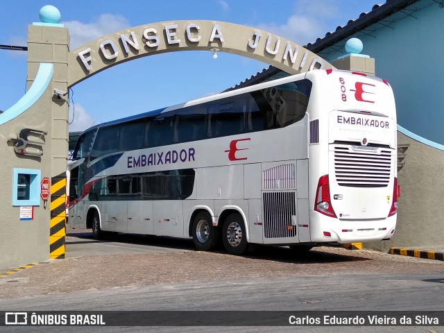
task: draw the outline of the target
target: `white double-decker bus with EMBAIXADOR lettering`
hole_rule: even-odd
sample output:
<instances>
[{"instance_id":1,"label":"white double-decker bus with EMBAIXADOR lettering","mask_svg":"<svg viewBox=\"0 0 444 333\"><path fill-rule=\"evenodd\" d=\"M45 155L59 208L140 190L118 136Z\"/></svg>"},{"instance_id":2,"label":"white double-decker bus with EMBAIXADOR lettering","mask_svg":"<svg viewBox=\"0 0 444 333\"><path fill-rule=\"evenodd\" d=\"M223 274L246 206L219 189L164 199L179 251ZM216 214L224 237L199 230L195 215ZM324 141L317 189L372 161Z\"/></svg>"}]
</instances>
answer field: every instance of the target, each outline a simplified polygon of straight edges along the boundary
<instances>
[{"instance_id":1,"label":"white double-decker bus with EMBAIXADOR lettering","mask_svg":"<svg viewBox=\"0 0 444 333\"><path fill-rule=\"evenodd\" d=\"M69 225L288 245L390 239L396 113L385 80L316 70L94 126L69 166Z\"/></svg>"}]
</instances>

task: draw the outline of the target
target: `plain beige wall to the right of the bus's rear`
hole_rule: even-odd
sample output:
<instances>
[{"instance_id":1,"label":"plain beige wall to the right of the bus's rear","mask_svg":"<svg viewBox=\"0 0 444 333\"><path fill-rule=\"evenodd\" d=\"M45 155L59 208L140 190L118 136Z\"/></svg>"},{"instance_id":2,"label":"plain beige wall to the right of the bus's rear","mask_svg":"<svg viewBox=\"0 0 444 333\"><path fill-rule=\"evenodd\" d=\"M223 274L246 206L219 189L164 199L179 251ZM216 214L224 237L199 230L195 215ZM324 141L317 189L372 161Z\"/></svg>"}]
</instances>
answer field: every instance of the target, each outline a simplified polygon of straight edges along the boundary
<instances>
[{"instance_id":1,"label":"plain beige wall to the right of the bus's rear","mask_svg":"<svg viewBox=\"0 0 444 333\"><path fill-rule=\"evenodd\" d=\"M409 144L404 167L398 173L401 196L398 223L390 241L364 244L387 251L391 246L427 248L444 244L444 152L398 132L398 146Z\"/></svg>"}]
</instances>

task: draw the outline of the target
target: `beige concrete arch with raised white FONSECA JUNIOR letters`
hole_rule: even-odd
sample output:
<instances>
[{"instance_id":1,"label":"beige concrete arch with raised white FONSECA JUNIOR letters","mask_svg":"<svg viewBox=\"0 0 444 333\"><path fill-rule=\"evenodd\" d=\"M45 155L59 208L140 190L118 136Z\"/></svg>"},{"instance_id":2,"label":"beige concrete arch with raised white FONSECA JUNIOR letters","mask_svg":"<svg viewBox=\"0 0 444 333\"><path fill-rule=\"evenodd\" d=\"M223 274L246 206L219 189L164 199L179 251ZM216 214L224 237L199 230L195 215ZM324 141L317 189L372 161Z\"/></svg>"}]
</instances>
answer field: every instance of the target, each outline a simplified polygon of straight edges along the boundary
<instances>
[{"instance_id":1,"label":"beige concrete arch with raised white FONSECA JUNIOR letters","mask_svg":"<svg viewBox=\"0 0 444 333\"><path fill-rule=\"evenodd\" d=\"M144 24L112 33L68 54L68 87L121 62L173 51L228 52L298 74L333 68L304 47L266 31L228 22Z\"/></svg>"}]
</instances>

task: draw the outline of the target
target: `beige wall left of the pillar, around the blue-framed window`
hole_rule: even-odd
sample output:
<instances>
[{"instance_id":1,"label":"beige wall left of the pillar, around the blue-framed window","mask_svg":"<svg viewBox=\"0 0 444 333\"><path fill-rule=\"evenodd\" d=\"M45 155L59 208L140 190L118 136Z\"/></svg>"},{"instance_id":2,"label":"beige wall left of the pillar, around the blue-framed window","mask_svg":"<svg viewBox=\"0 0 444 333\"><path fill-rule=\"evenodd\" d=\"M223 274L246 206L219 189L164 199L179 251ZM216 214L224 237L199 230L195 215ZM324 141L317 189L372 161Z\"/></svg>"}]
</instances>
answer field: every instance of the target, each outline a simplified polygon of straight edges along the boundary
<instances>
[{"instance_id":1,"label":"beige wall left of the pillar, around the blue-framed window","mask_svg":"<svg viewBox=\"0 0 444 333\"><path fill-rule=\"evenodd\" d=\"M51 99L51 88L44 98ZM49 207L43 201L34 207L33 221L19 221L20 207L12 207L12 169L26 168L42 170L42 177L51 177L51 140L46 136L42 157L28 157L15 153L8 139L17 138L22 128L51 130L51 108L44 101L37 101L35 108L0 126L0 156L2 177L0 178L0 268L22 266L49 259ZM46 169L46 170L45 170Z\"/></svg>"}]
</instances>

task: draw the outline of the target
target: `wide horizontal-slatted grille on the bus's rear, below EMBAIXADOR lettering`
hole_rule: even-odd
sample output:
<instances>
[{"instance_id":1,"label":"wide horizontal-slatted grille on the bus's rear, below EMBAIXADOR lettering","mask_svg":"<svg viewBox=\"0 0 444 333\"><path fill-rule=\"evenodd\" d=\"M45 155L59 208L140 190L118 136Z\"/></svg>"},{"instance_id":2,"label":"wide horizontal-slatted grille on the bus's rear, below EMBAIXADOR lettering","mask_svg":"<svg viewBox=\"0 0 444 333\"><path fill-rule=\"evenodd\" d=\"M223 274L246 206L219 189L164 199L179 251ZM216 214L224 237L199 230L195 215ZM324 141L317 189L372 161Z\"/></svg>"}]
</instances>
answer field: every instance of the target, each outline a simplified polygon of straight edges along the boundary
<instances>
[{"instance_id":1,"label":"wide horizontal-slatted grille on the bus's rear, below EMBAIXADOR lettering","mask_svg":"<svg viewBox=\"0 0 444 333\"><path fill-rule=\"evenodd\" d=\"M369 147L370 148L370 147ZM386 187L390 180L393 152L334 147L334 174L339 186Z\"/></svg>"}]
</instances>

